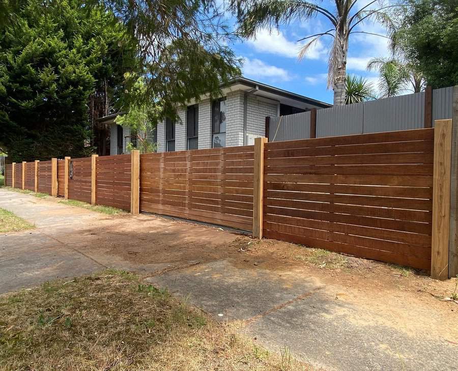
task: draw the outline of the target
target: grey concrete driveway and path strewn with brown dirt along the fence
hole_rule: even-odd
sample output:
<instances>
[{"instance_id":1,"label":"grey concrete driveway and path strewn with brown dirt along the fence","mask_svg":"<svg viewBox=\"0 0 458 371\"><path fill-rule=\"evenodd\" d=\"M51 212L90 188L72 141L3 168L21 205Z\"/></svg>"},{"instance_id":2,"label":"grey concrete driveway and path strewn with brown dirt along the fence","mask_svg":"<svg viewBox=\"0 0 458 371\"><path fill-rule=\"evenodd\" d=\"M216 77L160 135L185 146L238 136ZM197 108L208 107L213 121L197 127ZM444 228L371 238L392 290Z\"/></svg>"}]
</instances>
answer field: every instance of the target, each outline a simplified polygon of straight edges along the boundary
<instances>
[{"instance_id":1,"label":"grey concrete driveway and path strewn with brown dirt along the fence","mask_svg":"<svg viewBox=\"0 0 458 371\"><path fill-rule=\"evenodd\" d=\"M134 270L313 368L458 370L458 305L432 296L450 293L451 281L362 260L320 269L297 259L299 246L152 215L113 218L5 189L0 207L37 226L0 236L0 292Z\"/></svg>"}]
</instances>

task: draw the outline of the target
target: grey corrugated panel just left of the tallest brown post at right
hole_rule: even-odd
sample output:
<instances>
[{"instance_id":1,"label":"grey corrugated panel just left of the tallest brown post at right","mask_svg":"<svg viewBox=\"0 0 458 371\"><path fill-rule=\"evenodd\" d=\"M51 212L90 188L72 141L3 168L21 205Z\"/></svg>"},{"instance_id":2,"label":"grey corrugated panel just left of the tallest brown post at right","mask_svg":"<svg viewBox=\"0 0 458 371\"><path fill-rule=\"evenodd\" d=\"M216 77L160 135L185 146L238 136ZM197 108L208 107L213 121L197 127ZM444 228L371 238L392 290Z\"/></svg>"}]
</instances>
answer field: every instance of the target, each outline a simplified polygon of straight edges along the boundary
<instances>
[{"instance_id":1,"label":"grey corrugated panel just left of the tallest brown post at right","mask_svg":"<svg viewBox=\"0 0 458 371\"><path fill-rule=\"evenodd\" d=\"M363 103L363 133L424 127L424 92ZM349 133L350 134L350 133Z\"/></svg>"}]
</instances>

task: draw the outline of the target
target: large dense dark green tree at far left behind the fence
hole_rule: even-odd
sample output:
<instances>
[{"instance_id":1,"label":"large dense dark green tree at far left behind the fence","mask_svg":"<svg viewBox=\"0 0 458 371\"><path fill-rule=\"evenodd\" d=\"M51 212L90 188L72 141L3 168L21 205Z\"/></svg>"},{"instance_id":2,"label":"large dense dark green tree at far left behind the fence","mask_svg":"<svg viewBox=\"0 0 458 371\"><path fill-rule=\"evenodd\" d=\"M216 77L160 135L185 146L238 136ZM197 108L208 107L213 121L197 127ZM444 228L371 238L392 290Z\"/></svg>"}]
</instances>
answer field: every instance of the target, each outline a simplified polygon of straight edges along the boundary
<instances>
[{"instance_id":1,"label":"large dense dark green tree at far left behind the fence","mask_svg":"<svg viewBox=\"0 0 458 371\"><path fill-rule=\"evenodd\" d=\"M13 161L85 156L89 95L106 80L122 89L135 42L113 13L79 0L27 1L14 14L0 29L0 147Z\"/></svg>"}]
</instances>

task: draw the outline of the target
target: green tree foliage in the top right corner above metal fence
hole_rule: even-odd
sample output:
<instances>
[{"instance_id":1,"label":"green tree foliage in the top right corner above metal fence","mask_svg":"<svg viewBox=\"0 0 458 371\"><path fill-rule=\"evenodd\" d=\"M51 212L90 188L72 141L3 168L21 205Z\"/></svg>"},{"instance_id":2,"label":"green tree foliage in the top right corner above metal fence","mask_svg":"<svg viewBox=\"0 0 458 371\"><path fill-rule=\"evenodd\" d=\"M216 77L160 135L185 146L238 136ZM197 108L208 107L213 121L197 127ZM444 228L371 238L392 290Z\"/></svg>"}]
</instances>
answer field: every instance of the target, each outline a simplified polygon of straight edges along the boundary
<instances>
[{"instance_id":1,"label":"green tree foliage in the top right corner above metal fence","mask_svg":"<svg viewBox=\"0 0 458 371\"><path fill-rule=\"evenodd\" d=\"M434 88L458 84L456 0L406 0L394 43L403 47Z\"/></svg>"}]
</instances>

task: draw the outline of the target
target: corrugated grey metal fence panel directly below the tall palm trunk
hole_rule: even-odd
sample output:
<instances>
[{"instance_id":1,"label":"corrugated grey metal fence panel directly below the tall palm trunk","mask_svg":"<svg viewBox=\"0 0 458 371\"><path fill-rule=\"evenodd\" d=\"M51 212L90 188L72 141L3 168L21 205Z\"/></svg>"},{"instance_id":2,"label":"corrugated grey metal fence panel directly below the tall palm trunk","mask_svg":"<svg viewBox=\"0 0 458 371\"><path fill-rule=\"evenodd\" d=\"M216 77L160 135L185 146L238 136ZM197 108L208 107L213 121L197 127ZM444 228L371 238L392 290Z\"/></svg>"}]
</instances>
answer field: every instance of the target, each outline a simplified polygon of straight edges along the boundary
<instances>
[{"instance_id":1,"label":"corrugated grey metal fence panel directly below the tall palm trunk","mask_svg":"<svg viewBox=\"0 0 458 371\"><path fill-rule=\"evenodd\" d=\"M317 138L362 134L363 117L364 103L320 109L317 111Z\"/></svg>"}]
</instances>

